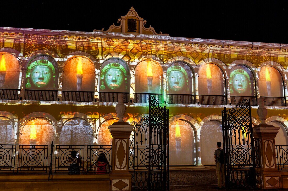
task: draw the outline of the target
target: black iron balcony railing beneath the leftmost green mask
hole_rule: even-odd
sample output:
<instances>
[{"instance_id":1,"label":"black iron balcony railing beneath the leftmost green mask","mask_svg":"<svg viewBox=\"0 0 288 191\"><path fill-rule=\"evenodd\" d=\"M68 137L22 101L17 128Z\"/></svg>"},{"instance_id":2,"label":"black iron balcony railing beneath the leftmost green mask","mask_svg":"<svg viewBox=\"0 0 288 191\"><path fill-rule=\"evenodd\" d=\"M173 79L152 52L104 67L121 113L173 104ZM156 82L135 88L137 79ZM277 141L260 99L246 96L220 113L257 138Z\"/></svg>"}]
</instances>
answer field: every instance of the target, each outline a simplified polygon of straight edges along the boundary
<instances>
[{"instance_id":1,"label":"black iron balcony railing beneath the leftmost green mask","mask_svg":"<svg viewBox=\"0 0 288 191\"><path fill-rule=\"evenodd\" d=\"M25 100L55 101L58 90L25 89Z\"/></svg>"}]
</instances>

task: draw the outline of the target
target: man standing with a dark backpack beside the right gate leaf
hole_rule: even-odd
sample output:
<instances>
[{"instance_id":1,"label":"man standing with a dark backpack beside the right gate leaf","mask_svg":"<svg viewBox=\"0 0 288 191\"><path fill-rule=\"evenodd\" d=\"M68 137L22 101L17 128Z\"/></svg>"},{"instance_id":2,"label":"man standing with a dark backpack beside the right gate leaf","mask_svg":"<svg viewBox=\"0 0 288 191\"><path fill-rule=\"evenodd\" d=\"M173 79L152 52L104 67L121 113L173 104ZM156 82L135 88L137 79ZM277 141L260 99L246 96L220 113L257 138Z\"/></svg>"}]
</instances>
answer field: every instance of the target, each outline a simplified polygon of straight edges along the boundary
<instances>
[{"instance_id":1,"label":"man standing with a dark backpack beside the right gate leaf","mask_svg":"<svg viewBox=\"0 0 288 191\"><path fill-rule=\"evenodd\" d=\"M221 149L221 145L221 142L217 142L217 149L214 153L217 174L217 186L215 189L225 188L224 151Z\"/></svg>"}]
</instances>

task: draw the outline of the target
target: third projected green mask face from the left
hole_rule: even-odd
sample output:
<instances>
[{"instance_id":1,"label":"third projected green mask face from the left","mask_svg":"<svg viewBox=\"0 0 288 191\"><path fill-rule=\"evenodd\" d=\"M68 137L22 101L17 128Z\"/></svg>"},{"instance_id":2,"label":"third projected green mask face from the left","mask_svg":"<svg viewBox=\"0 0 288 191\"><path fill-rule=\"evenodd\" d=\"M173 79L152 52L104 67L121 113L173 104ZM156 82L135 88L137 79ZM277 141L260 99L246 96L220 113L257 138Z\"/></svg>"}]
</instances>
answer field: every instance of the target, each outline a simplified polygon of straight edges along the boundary
<instances>
[{"instance_id":1,"label":"third projected green mask face from the left","mask_svg":"<svg viewBox=\"0 0 288 191\"><path fill-rule=\"evenodd\" d=\"M185 85L185 76L180 71L171 71L168 76L169 89L180 91Z\"/></svg>"}]
</instances>

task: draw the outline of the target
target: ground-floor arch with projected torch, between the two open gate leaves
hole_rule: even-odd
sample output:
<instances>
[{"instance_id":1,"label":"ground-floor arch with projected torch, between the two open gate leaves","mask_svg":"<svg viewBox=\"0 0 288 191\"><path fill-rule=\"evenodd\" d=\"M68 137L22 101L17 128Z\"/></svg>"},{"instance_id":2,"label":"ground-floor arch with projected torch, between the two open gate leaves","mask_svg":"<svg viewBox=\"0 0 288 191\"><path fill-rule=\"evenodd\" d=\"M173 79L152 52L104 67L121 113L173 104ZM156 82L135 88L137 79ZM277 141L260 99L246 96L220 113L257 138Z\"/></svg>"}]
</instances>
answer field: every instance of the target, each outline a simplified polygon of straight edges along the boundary
<instances>
[{"instance_id":1,"label":"ground-floor arch with projected torch, between the two open gate leaves","mask_svg":"<svg viewBox=\"0 0 288 191\"><path fill-rule=\"evenodd\" d=\"M169 126L170 165L195 165L196 143L191 124L176 120Z\"/></svg>"}]
</instances>

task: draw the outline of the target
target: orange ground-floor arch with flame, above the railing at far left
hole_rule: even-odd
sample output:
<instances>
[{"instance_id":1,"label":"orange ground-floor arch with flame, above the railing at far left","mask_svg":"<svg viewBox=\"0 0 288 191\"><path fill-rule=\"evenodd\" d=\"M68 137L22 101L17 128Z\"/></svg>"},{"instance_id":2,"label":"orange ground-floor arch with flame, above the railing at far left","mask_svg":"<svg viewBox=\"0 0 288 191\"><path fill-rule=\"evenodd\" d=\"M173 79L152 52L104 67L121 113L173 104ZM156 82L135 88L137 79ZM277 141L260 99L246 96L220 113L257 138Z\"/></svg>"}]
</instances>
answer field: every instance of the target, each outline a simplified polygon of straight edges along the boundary
<instances>
[{"instance_id":1,"label":"orange ground-floor arch with flame, above the railing at far left","mask_svg":"<svg viewBox=\"0 0 288 191\"><path fill-rule=\"evenodd\" d=\"M23 127L22 145L50 145L54 141L55 129L52 123L42 117L29 120Z\"/></svg>"}]
</instances>

